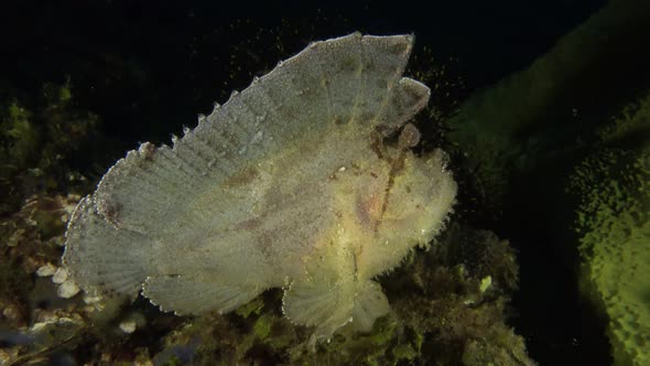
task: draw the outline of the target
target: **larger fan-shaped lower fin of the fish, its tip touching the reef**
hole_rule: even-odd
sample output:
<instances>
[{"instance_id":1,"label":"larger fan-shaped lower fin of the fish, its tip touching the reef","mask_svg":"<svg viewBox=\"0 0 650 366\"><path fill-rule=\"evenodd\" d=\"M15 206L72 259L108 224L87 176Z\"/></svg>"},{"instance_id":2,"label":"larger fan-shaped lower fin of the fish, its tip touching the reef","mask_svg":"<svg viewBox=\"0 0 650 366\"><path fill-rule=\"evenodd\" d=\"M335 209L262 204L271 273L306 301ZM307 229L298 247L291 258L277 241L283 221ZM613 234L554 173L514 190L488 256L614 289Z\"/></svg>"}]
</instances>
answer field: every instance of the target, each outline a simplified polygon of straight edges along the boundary
<instances>
[{"instance_id":1,"label":"larger fan-shaped lower fin of the fish, its tip touching the reef","mask_svg":"<svg viewBox=\"0 0 650 366\"><path fill-rule=\"evenodd\" d=\"M308 278L284 290L282 310L295 324L316 326L310 340L313 348L316 341L329 338L334 331L351 320L353 306L353 281Z\"/></svg>"}]
</instances>

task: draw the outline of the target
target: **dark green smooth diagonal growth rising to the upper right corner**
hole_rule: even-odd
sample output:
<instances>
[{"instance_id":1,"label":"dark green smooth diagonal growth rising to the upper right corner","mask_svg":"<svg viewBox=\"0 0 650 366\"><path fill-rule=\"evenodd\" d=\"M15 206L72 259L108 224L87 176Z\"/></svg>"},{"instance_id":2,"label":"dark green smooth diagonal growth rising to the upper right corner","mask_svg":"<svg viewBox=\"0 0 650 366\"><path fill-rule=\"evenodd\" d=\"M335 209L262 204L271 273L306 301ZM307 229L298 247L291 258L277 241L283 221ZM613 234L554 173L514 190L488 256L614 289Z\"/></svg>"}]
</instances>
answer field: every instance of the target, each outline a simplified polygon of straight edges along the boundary
<instances>
[{"instance_id":1,"label":"dark green smooth diagonal growth rising to the upper right corner","mask_svg":"<svg viewBox=\"0 0 650 366\"><path fill-rule=\"evenodd\" d=\"M587 150L600 116L644 90L648 57L639 50L649 14L648 3L610 1L524 69L472 95L446 121L456 171L468 176L459 184L491 208L481 216L498 218L522 177ZM621 57L629 66L618 66ZM647 136L648 127L637 128Z\"/></svg>"}]
</instances>

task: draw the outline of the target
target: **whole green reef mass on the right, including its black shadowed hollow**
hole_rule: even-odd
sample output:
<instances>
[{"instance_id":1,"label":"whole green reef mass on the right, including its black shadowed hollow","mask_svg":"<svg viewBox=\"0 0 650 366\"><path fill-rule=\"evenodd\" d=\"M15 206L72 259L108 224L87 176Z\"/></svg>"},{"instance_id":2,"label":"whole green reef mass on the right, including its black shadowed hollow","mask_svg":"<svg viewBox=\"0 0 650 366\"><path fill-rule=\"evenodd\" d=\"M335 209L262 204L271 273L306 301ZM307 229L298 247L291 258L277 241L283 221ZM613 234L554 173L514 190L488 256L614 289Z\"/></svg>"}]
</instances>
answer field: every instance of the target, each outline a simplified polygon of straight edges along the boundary
<instances>
[{"instance_id":1,"label":"whole green reef mass on the right, including its black shadowed hollow","mask_svg":"<svg viewBox=\"0 0 650 366\"><path fill-rule=\"evenodd\" d=\"M467 214L519 250L518 330L588 344L603 364L648 363L649 18L648 3L610 1L446 121L469 177L459 193L490 207ZM542 309L552 325L534 321Z\"/></svg>"}]
</instances>

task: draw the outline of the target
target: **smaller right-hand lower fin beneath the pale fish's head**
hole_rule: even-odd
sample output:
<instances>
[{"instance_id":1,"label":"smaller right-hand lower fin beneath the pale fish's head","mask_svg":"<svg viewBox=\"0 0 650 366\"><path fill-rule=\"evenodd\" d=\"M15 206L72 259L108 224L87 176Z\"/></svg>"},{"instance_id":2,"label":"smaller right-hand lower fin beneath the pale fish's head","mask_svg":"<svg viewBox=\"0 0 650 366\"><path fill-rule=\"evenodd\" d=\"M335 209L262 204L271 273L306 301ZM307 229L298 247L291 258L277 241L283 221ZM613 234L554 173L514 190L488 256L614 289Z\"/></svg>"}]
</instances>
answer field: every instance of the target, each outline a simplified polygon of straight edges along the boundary
<instances>
[{"instance_id":1,"label":"smaller right-hand lower fin beneath the pale fish's head","mask_svg":"<svg viewBox=\"0 0 650 366\"><path fill-rule=\"evenodd\" d=\"M364 281L357 286L353 309L353 325L360 332L370 332L375 320L388 314L390 306L381 286L376 281Z\"/></svg>"}]
</instances>

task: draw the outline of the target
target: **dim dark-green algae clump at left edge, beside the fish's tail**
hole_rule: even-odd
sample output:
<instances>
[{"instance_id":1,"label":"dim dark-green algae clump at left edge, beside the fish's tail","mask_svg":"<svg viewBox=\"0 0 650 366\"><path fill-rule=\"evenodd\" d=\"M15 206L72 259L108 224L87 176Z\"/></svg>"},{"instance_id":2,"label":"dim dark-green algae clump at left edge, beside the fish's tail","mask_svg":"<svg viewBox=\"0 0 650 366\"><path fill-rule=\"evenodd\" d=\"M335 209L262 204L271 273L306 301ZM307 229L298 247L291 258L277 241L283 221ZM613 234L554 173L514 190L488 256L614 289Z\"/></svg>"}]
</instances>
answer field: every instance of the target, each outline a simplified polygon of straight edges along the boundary
<instances>
[{"instance_id":1,"label":"dim dark-green algae clump at left edge, beside the fish's tail","mask_svg":"<svg viewBox=\"0 0 650 366\"><path fill-rule=\"evenodd\" d=\"M74 105L69 82L45 84L37 103L0 100L0 214L79 175L65 162L91 143L99 118Z\"/></svg>"}]
</instances>

